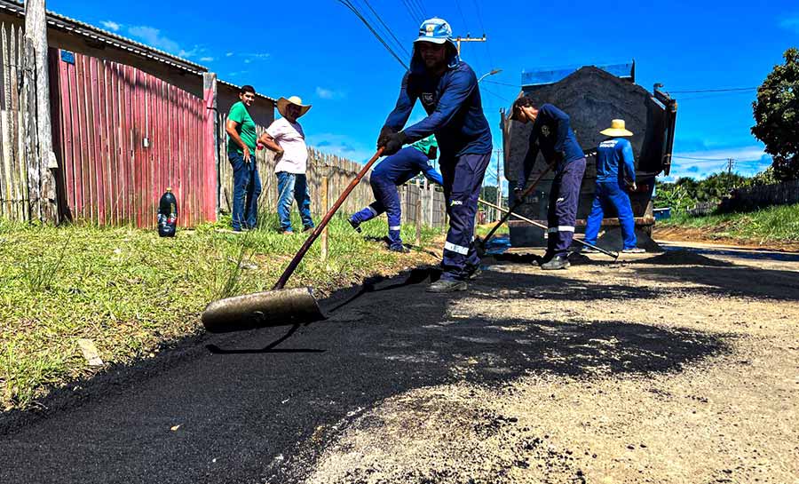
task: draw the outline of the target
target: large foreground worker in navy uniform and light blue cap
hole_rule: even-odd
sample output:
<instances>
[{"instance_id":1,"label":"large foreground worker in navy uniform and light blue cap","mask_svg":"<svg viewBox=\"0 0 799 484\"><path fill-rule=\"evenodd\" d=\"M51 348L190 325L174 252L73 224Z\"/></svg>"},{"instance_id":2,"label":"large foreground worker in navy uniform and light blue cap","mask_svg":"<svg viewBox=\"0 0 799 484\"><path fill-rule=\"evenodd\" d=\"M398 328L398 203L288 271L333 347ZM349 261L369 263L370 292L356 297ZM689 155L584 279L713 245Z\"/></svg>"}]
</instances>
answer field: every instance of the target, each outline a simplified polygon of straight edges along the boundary
<instances>
[{"instance_id":1,"label":"large foreground worker in navy uniform and light blue cap","mask_svg":"<svg viewBox=\"0 0 799 484\"><path fill-rule=\"evenodd\" d=\"M427 117L403 129L417 99ZM483 114L477 76L458 56L452 28L441 19L425 20L419 29L397 105L380 131L377 147L384 147L384 155L392 155L431 134L439 142L449 230L441 278L427 290L466 290L466 281L479 272L474 220L491 160L491 130Z\"/></svg>"}]
</instances>

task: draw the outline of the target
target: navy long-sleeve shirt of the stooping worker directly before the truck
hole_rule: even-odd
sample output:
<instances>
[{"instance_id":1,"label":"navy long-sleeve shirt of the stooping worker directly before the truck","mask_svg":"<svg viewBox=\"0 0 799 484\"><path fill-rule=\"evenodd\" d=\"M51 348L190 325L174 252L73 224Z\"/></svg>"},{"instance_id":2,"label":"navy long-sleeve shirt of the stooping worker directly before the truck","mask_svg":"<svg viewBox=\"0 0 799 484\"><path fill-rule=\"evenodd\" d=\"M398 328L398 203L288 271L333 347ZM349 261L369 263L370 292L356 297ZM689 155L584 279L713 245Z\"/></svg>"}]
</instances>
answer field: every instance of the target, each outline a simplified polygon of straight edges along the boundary
<instances>
[{"instance_id":1,"label":"navy long-sleeve shirt of the stooping worker directly before the truck","mask_svg":"<svg viewBox=\"0 0 799 484\"><path fill-rule=\"evenodd\" d=\"M523 188L530 173L533 171L535 158L541 151L547 163L556 159L556 154L563 154L563 161L556 167L562 170L566 163L571 163L585 157L582 148L577 143L577 138L569 123L569 115L551 104L544 104L538 109L538 116L533 122L533 131L530 133L530 145L527 155L521 164L518 173L518 187Z\"/></svg>"}]
</instances>

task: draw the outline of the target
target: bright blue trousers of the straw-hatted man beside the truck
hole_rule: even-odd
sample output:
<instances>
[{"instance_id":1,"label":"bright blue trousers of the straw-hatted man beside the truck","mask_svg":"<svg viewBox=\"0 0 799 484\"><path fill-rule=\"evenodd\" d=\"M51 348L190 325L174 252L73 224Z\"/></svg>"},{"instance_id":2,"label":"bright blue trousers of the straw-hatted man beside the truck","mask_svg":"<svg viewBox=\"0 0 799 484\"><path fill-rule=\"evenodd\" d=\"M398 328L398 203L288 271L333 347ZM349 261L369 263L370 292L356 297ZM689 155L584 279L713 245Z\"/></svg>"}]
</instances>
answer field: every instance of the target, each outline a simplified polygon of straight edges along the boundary
<instances>
[{"instance_id":1,"label":"bright blue trousers of the straw-hatted man beside the truck","mask_svg":"<svg viewBox=\"0 0 799 484\"><path fill-rule=\"evenodd\" d=\"M602 218L605 217L606 212L613 210L619 216L621 234L624 236L623 249L634 249L637 245L636 219L629 203L629 194L613 181L597 183L594 204L591 206L591 214L585 224L585 242L597 245L597 235L599 227L602 226Z\"/></svg>"}]
</instances>

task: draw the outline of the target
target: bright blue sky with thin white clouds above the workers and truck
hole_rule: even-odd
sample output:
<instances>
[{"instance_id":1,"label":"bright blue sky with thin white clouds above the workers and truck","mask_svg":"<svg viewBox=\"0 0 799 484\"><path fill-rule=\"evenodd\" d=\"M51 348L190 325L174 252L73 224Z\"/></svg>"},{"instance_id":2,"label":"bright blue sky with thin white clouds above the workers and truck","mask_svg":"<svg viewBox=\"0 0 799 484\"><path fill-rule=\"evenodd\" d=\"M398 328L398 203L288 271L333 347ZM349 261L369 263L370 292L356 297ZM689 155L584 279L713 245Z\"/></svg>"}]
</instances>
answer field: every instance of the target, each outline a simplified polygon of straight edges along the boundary
<instances>
[{"instance_id":1,"label":"bright blue sky with thin white clouds above the workers and truck","mask_svg":"<svg viewBox=\"0 0 799 484\"><path fill-rule=\"evenodd\" d=\"M368 12L364 0L353 2ZM485 31L488 42L464 44L462 57L478 75L502 69L481 84L495 148L502 140L499 110L517 95L524 69L635 59L637 83L649 90L653 83L663 83L666 91L748 88L763 82L782 52L799 45L795 1L419 0L423 12L407 8L415 0L369 4L407 51L422 14L447 19L455 35ZM253 84L268 96L302 97L313 104L303 118L310 143L356 161L372 154L403 74L399 62L336 0L50 0L47 5L193 60L227 81ZM673 176L707 176L729 157L742 174L768 166L763 145L749 132L755 91L674 96L679 112ZM411 121L421 117L417 108ZM487 183L495 180L494 172Z\"/></svg>"}]
</instances>

